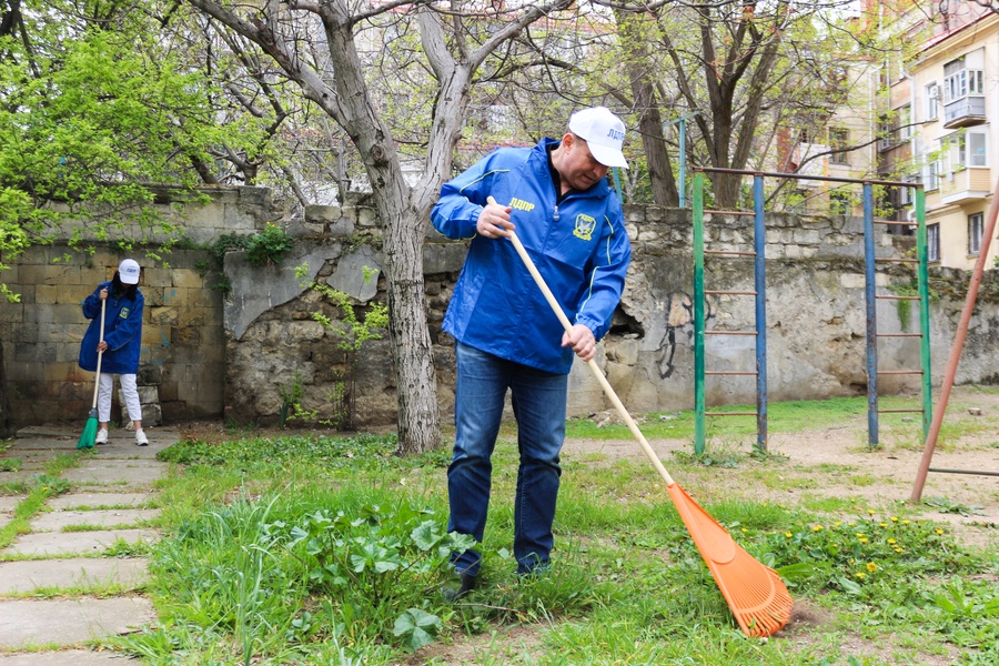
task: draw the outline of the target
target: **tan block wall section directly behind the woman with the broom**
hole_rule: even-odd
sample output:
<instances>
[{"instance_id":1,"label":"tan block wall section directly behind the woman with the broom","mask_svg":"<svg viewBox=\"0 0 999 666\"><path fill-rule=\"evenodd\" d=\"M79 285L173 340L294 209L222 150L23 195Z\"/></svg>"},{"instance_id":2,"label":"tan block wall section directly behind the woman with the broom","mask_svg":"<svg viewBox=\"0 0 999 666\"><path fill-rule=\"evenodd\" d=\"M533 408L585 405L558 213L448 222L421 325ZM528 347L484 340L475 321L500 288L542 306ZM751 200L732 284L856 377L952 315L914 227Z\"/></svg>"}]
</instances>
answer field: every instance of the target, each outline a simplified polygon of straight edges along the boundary
<instances>
[{"instance_id":1,"label":"tan block wall section directly behind the woman with the broom","mask_svg":"<svg viewBox=\"0 0 999 666\"><path fill-rule=\"evenodd\" d=\"M140 289L145 316L140 354L140 398L150 424L219 417L223 412L225 339L223 292L214 286L220 273L208 269L205 246L225 233L263 229L272 213L266 191L219 188L211 203L189 210L188 238L181 246L142 265ZM168 218L176 212L169 205ZM142 238L127 229L122 238ZM85 234L84 234L85 235ZM19 303L0 300L0 340L14 425L52 421L85 421L93 404L94 374L77 365L80 341L89 321L81 303L97 285L110 280L124 254L98 244L91 255L54 244L37 246L0 274ZM114 403L120 404L115 391ZM118 418L118 410L112 418Z\"/></svg>"}]
</instances>

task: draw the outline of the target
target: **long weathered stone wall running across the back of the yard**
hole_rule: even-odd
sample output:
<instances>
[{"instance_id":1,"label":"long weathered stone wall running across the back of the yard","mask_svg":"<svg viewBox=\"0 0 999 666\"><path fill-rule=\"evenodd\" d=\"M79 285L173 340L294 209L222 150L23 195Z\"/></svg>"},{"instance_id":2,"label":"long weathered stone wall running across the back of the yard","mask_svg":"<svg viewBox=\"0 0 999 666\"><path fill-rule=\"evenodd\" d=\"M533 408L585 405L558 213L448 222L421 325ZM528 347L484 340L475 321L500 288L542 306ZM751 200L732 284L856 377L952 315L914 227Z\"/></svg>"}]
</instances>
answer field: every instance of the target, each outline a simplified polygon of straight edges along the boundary
<instances>
[{"instance_id":1,"label":"long weathered stone wall running across the back of the yard","mask_svg":"<svg viewBox=\"0 0 999 666\"><path fill-rule=\"evenodd\" d=\"M213 208L214 206L214 208ZM193 212L201 243L233 229L260 230L270 219L259 191L218 190L211 206ZM601 345L598 364L635 413L693 406L693 259L689 211L626 208L634 260L625 295L610 333ZM357 316L374 302L386 302L381 274L379 229L364 196L350 204L314 206L304 221L289 224L294 250L280 265L249 265L229 253L224 276L206 269L210 254L191 249L162 262L141 260L147 295L142 363L157 383L163 420L228 416L240 422L273 423L300 391L310 420L343 422L355 427L395 422L392 350L387 341L370 341L356 355L341 349L343 336L324 327L313 313L337 324L339 307L303 286L295 270L307 264L306 278L353 296ZM877 230L881 258L911 253L911 238ZM709 249L746 250L753 222L747 218L710 216ZM767 344L771 401L823 398L866 393L866 322L861 221L849 218L767 218ZM107 279L120 255L99 252L89 263L53 264L61 249L36 249L13 272L3 274L23 295L19 305L0 304L12 411L18 424L80 420L90 408L92 373L75 367L85 321L79 303ZM454 386L453 340L441 330L444 311L464 260L465 245L427 230L424 250L428 325L438 380L438 402L451 413ZM999 383L999 280L986 276L969 331L958 382ZM934 270L931 306L932 376L939 384L967 285L958 272ZM366 279L365 279L366 276ZM12 279L13 278L13 279ZM879 264L879 293L889 284L908 284L911 269ZM229 283L223 293L214 285ZM751 291L749 259L710 259L706 286ZM882 333L918 331L917 304L909 312L894 301L878 302ZM751 330L751 297L712 296L708 330ZM709 370L755 367L751 336L707 336ZM919 365L918 339L881 339L879 367ZM882 376L882 393L918 391L918 379ZM598 384L583 364L569 377L569 413L609 408ZM344 393L345 392L345 393ZM708 377L708 404L755 402L753 377ZM286 412L285 412L286 415Z\"/></svg>"}]
</instances>

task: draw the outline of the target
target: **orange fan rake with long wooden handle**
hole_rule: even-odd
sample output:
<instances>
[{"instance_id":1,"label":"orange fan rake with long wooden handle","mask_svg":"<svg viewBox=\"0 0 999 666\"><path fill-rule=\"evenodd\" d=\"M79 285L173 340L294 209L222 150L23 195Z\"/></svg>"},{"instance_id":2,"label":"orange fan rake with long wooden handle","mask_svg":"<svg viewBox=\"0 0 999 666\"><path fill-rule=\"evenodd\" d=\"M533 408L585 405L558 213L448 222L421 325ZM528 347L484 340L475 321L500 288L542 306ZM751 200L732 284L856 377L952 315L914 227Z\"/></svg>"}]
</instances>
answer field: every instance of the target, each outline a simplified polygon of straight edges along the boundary
<instances>
[{"instance_id":1,"label":"orange fan rake with long wooden handle","mask_svg":"<svg viewBox=\"0 0 999 666\"><path fill-rule=\"evenodd\" d=\"M488 198L488 202L496 203L492 196ZM565 316L565 312L562 311L562 306L558 305L558 301L555 300L555 295L548 289L544 278L538 273L537 266L534 265L531 256L528 256L523 243L521 243L521 239L517 238L516 233L509 231L509 240L513 242L517 254L521 255L537 286L545 295L545 300L548 301L548 305L552 306L558 321L562 322L566 332L571 332L573 325L569 323L568 317ZM594 376L601 383L604 393L614 403L628 430L632 431L638 444L642 445L645 455L655 466L659 476L663 477L663 481L666 482L669 497L673 500L680 518L683 518L684 525L687 526L687 531L694 538L694 544L712 572L712 576L714 576L715 583L722 591L722 596L725 597L736 622L739 624L739 628L747 636L756 637L770 636L781 629L787 624L787 620L790 619L794 602L780 576L777 575L777 572L757 562L749 553L740 548L735 543L735 539L731 538L731 535L715 518L708 515L686 491L677 485L645 440L642 431L638 430L635 421L628 414L624 404L622 404L620 398L617 397L596 362L591 359L587 361L587 365L589 365L589 370L593 371Z\"/></svg>"}]
</instances>

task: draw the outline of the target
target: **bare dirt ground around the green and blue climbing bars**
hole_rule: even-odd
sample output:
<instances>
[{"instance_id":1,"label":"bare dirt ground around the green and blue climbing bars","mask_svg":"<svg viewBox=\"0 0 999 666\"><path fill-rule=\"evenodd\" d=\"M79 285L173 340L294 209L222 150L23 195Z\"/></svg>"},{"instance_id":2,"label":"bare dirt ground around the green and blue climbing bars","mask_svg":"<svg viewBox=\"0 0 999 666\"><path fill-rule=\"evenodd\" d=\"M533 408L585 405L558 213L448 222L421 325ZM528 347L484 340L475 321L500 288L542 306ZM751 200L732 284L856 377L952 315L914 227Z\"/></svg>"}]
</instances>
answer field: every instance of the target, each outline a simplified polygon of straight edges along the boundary
<instances>
[{"instance_id":1,"label":"bare dirt ground around the green and blue climbing bars","mask_svg":"<svg viewBox=\"0 0 999 666\"><path fill-rule=\"evenodd\" d=\"M952 441L938 438L930 468L999 474L999 392L955 387L944 424L963 434ZM791 506L805 498L856 497L865 508L890 511L910 502L924 447L892 433L885 422L879 435L880 445L871 450L864 414L837 427L770 435L768 452L774 461L744 458L737 468L708 468L687 480L683 471L670 473L703 502L729 493ZM747 438L741 450L739 444L714 445L738 454L749 451L754 441ZM674 452L692 451L688 441L649 440L649 444L667 471ZM645 458L634 440L571 440L564 452L567 460ZM780 470L777 483L773 478L761 483L759 470L775 465ZM999 476L930 472L921 500L922 504L909 507L921 511L924 517L951 523L956 536L969 545L999 547Z\"/></svg>"}]
</instances>

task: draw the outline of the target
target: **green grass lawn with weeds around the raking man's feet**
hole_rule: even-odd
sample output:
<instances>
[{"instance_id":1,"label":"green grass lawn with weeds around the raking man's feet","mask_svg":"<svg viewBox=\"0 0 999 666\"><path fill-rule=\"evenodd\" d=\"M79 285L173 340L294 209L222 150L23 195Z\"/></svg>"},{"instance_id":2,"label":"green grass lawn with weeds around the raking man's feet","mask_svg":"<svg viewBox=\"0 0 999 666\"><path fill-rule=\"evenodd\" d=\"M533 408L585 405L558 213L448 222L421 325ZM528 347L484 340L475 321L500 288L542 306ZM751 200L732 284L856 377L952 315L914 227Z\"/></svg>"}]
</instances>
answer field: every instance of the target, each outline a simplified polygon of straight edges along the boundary
<instances>
[{"instance_id":1,"label":"green grass lawn with weeds around the raking man's feet","mask_svg":"<svg viewBox=\"0 0 999 666\"><path fill-rule=\"evenodd\" d=\"M771 432L821 441L850 431L865 408L862 398L775 404ZM890 488L890 475L862 462L750 453L741 442L751 443L751 425L717 426L705 456L693 456L690 414L660 416L643 420L646 436L687 446L664 457L667 468L795 599L791 622L769 639L738 629L642 457L567 453L554 566L518 579L508 552L516 443L505 430L483 583L448 603L447 555L467 546L446 534L450 442L402 460L391 436L290 431L161 452L175 463L147 589L161 622L113 646L192 665L999 664L996 525L976 527L986 544L957 538L944 516L975 516L963 496L886 500L872 492ZM897 443L877 460L918 455L912 424L885 422ZM982 433L997 424L957 424L941 446L987 452ZM628 438L620 428L578 421L569 438ZM862 436L849 436L865 455ZM989 493L982 502L999 503Z\"/></svg>"}]
</instances>

